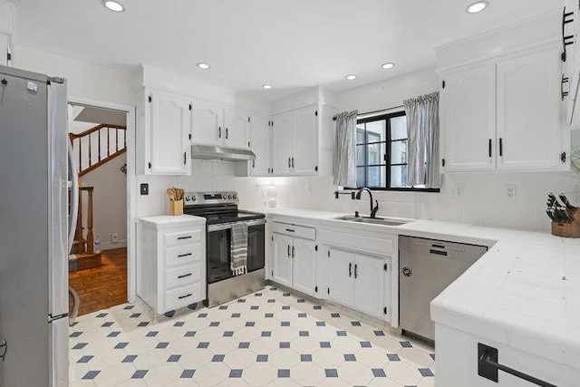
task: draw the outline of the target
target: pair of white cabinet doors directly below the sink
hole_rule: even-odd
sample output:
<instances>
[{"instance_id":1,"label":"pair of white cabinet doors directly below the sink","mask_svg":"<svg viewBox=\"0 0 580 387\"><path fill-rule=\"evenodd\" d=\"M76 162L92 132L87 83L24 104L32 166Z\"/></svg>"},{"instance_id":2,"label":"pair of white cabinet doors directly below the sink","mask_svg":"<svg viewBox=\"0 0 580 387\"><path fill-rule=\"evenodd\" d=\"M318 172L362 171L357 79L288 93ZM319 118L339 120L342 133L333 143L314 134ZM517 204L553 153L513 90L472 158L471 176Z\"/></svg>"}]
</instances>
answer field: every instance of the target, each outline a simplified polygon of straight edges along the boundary
<instances>
[{"instance_id":1,"label":"pair of white cabinet doors directly below the sink","mask_svg":"<svg viewBox=\"0 0 580 387\"><path fill-rule=\"evenodd\" d=\"M350 306L365 314L383 318L385 311L384 267L388 265L381 256L329 247L330 299Z\"/></svg>"}]
</instances>

